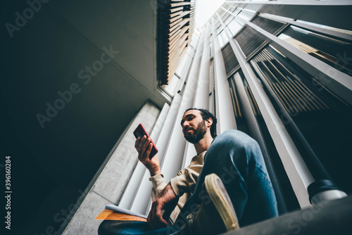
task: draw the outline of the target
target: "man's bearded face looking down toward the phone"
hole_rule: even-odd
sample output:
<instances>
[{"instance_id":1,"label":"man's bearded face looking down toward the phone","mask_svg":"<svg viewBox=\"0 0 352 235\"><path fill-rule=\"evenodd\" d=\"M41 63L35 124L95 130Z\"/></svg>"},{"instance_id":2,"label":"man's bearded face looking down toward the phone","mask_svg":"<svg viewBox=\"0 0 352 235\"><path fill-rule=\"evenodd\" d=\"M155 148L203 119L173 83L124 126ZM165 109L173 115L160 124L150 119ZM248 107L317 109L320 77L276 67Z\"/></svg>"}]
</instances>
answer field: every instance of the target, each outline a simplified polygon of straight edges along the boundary
<instances>
[{"instance_id":1,"label":"man's bearded face looking down toward the phone","mask_svg":"<svg viewBox=\"0 0 352 235\"><path fill-rule=\"evenodd\" d=\"M198 143L206 134L206 122L199 110L188 110L184 113L181 121L184 138L191 144Z\"/></svg>"}]
</instances>

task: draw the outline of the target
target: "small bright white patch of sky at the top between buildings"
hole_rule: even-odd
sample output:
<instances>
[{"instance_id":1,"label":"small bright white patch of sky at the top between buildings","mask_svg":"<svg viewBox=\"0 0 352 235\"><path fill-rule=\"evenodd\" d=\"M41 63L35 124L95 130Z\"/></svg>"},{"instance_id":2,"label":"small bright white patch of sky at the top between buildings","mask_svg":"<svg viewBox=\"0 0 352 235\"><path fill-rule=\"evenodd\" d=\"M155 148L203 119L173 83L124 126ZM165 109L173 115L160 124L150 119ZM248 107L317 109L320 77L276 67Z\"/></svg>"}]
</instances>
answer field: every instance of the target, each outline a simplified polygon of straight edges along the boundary
<instances>
[{"instance_id":1,"label":"small bright white patch of sky at the top between buildings","mask_svg":"<svg viewBox=\"0 0 352 235\"><path fill-rule=\"evenodd\" d=\"M196 25L203 26L225 0L197 0Z\"/></svg>"}]
</instances>

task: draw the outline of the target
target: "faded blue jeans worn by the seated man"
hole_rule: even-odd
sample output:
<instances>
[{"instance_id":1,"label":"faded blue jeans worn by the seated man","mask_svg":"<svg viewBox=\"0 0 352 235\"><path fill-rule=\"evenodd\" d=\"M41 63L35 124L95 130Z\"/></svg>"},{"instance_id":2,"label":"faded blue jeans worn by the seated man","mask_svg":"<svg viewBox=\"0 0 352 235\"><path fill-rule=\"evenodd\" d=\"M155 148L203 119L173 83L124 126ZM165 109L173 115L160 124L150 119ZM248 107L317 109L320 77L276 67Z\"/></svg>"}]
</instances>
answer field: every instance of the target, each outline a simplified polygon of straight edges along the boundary
<instances>
[{"instance_id":1,"label":"faded blue jeans worn by the seated man","mask_svg":"<svg viewBox=\"0 0 352 235\"><path fill-rule=\"evenodd\" d=\"M275 193L258 143L244 132L228 130L210 145L194 193L182 208L174 226L152 231L146 222L131 222L129 229L117 229L113 234L177 233L187 223L187 215L197 210L206 196L202 184L206 175L211 173L217 174L225 185L240 227L278 215Z\"/></svg>"}]
</instances>

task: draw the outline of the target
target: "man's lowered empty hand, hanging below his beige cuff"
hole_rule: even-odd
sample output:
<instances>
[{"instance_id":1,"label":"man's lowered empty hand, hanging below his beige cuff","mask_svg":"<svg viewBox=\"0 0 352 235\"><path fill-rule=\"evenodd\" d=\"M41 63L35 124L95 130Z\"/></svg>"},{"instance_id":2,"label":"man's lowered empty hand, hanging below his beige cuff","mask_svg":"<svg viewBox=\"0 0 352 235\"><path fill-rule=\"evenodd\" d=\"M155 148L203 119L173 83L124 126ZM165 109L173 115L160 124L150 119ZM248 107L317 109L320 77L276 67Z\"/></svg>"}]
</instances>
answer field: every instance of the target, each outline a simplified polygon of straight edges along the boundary
<instances>
[{"instance_id":1,"label":"man's lowered empty hand, hanging below his beige cuff","mask_svg":"<svg viewBox=\"0 0 352 235\"><path fill-rule=\"evenodd\" d=\"M152 229L161 229L168 226L167 220L169 219L172 210L175 209L177 202L178 198L169 183L151 205L151 211L146 220ZM164 213L162 215L163 210Z\"/></svg>"}]
</instances>

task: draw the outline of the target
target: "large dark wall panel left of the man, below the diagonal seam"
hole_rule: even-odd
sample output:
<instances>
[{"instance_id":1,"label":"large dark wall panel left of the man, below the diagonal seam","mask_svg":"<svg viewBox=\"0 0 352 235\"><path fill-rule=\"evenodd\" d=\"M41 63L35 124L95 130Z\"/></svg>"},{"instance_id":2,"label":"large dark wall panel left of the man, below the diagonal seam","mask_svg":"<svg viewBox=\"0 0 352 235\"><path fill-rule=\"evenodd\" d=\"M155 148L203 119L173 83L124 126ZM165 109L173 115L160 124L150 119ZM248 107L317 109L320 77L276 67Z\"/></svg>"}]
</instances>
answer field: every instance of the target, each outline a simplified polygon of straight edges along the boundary
<instances>
[{"instance_id":1,"label":"large dark wall panel left of the man, below the diagonal seam","mask_svg":"<svg viewBox=\"0 0 352 235\"><path fill-rule=\"evenodd\" d=\"M54 234L150 94L109 61L118 46L107 44L108 53L92 44L44 4L17 27L15 13L28 4L2 5L0 178L3 189L10 155L13 192L6 234Z\"/></svg>"}]
</instances>

